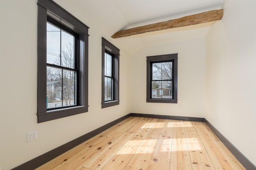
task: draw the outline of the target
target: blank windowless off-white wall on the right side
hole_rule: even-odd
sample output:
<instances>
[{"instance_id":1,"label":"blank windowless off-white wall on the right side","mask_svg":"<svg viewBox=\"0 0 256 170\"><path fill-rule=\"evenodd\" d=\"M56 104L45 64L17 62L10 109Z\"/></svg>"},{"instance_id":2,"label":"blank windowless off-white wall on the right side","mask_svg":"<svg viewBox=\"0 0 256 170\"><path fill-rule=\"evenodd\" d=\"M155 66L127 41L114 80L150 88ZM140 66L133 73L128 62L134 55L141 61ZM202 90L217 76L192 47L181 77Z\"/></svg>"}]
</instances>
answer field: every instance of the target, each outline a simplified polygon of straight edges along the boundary
<instances>
[{"instance_id":1,"label":"blank windowless off-white wall on the right side","mask_svg":"<svg viewBox=\"0 0 256 170\"><path fill-rule=\"evenodd\" d=\"M256 165L256 1L226 1L206 36L206 115Z\"/></svg>"}]
</instances>

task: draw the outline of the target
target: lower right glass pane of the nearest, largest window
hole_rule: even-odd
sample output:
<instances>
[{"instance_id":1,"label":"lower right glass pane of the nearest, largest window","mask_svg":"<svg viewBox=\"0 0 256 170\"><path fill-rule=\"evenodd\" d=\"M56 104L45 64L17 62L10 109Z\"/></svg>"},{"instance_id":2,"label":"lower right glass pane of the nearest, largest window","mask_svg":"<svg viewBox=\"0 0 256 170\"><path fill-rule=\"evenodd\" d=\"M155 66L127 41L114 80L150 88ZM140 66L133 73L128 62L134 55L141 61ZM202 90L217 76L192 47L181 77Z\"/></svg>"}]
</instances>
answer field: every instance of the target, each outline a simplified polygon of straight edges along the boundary
<instances>
[{"instance_id":1,"label":"lower right glass pane of the nearest, largest window","mask_svg":"<svg viewBox=\"0 0 256 170\"><path fill-rule=\"evenodd\" d=\"M63 70L63 106L76 105L75 71Z\"/></svg>"}]
</instances>

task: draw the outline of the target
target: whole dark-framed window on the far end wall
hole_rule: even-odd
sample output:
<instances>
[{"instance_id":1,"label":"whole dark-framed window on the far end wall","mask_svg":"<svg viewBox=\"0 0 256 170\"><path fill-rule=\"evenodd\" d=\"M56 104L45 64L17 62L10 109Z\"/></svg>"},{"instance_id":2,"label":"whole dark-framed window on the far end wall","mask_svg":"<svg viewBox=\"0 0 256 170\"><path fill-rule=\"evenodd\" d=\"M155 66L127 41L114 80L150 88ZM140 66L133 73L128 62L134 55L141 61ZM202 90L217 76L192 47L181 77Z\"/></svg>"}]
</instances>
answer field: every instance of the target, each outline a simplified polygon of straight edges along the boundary
<instances>
[{"instance_id":1,"label":"whole dark-framed window on the far end wall","mask_svg":"<svg viewBox=\"0 0 256 170\"><path fill-rule=\"evenodd\" d=\"M147 57L147 102L177 103L178 54Z\"/></svg>"}]
</instances>

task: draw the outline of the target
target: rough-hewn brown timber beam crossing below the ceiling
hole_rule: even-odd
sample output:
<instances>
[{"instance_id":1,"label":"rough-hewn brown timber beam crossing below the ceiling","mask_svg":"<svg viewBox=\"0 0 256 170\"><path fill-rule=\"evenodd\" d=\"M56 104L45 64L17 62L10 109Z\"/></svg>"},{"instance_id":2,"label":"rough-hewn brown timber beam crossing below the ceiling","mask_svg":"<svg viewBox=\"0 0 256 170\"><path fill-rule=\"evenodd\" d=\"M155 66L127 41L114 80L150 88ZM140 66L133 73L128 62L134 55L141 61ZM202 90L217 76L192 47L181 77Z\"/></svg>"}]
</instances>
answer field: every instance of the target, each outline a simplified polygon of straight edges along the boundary
<instances>
[{"instance_id":1,"label":"rough-hewn brown timber beam crossing below the ceiling","mask_svg":"<svg viewBox=\"0 0 256 170\"><path fill-rule=\"evenodd\" d=\"M206 22L212 22L221 20L223 16L223 9L221 10L212 10L207 12L202 12L199 14L194 14L190 16L184 16L182 18L168 20L164 22L158 22L154 24L149 24L146 26L140 26L136 28L130 28L127 30L121 30L116 32L112 38L121 38L121 37L128 37L136 34L142 34L146 32L153 32L159 30L166 30L170 28L177 28L177 27L184 27L184 26L191 26L196 24L202 24Z\"/></svg>"}]
</instances>

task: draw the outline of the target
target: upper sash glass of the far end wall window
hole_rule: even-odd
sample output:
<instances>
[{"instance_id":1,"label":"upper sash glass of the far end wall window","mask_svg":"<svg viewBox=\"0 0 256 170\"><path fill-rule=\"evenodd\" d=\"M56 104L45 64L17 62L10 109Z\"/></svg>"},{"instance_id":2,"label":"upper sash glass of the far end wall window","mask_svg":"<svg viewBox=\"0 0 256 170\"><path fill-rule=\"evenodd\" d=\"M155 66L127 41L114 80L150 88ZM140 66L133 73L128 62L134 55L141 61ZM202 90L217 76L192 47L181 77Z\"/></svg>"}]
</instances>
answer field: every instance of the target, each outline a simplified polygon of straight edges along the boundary
<instances>
[{"instance_id":1,"label":"upper sash glass of the far end wall window","mask_svg":"<svg viewBox=\"0 0 256 170\"><path fill-rule=\"evenodd\" d=\"M172 80L172 61L152 63L152 80Z\"/></svg>"}]
</instances>

